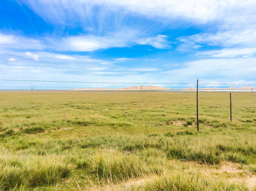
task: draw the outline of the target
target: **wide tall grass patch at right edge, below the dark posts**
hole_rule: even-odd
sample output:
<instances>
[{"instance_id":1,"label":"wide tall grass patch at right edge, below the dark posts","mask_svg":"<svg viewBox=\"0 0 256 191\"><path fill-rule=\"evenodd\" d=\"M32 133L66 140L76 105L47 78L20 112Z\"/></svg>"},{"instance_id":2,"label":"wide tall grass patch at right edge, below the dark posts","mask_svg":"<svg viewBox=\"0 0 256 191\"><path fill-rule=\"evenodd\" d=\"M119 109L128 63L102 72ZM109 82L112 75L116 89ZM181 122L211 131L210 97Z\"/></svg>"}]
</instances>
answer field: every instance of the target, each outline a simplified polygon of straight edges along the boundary
<instances>
[{"instance_id":1,"label":"wide tall grass patch at right edge, below the dark posts","mask_svg":"<svg viewBox=\"0 0 256 191\"><path fill-rule=\"evenodd\" d=\"M232 133L232 136L219 134L218 136L172 137L168 140L165 150L169 159L209 164L218 164L222 160L228 160L245 164L245 156L253 155L256 151L252 139L252 137L239 136L236 133Z\"/></svg>"}]
</instances>

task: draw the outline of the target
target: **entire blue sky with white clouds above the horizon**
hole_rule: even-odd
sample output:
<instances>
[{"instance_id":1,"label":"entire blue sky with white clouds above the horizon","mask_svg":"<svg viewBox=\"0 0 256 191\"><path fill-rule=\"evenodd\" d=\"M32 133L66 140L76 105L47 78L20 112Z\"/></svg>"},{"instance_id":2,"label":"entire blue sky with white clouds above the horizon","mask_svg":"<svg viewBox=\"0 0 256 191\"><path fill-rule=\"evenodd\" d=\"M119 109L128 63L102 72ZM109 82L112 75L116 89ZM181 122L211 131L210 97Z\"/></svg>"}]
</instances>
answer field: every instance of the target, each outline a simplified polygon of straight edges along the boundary
<instances>
[{"instance_id":1,"label":"entire blue sky with white clouds above the horizon","mask_svg":"<svg viewBox=\"0 0 256 191\"><path fill-rule=\"evenodd\" d=\"M256 84L255 10L255 0L1 0L0 79ZM32 86L130 84L0 81Z\"/></svg>"}]
</instances>

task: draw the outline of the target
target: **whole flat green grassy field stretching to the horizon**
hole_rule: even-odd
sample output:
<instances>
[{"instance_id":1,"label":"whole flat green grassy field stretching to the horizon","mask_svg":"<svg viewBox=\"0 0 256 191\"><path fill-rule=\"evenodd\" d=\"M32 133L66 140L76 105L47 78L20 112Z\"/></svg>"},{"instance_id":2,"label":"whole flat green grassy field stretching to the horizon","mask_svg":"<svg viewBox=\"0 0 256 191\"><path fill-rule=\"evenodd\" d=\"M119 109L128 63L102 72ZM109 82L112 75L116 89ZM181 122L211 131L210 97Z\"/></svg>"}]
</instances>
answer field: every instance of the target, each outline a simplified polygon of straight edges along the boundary
<instances>
[{"instance_id":1,"label":"whole flat green grassy field stretching to the horizon","mask_svg":"<svg viewBox=\"0 0 256 191\"><path fill-rule=\"evenodd\" d=\"M0 92L0 190L255 190L251 93ZM254 95L256 105L256 95Z\"/></svg>"}]
</instances>

